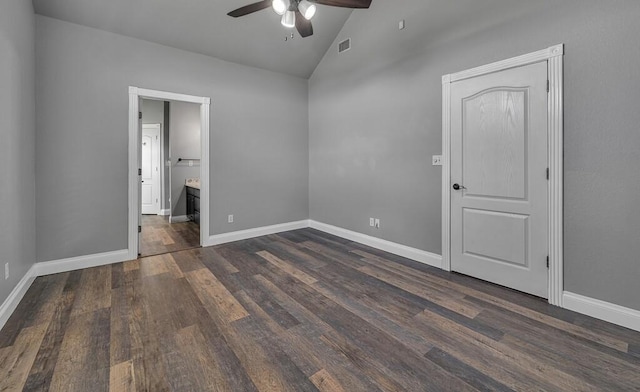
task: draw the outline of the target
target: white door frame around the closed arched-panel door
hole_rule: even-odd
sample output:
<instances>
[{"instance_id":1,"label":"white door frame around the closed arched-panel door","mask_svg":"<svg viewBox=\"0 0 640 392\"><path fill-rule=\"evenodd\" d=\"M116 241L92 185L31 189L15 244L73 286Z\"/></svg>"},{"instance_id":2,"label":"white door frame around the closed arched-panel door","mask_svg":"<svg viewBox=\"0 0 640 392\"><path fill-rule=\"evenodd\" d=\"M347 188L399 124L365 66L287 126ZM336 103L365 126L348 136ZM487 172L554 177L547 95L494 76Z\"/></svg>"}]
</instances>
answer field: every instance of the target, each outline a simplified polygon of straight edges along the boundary
<instances>
[{"instance_id":1,"label":"white door frame around the closed arched-panel door","mask_svg":"<svg viewBox=\"0 0 640 392\"><path fill-rule=\"evenodd\" d=\"M442 76L442 269L451 271L451 84L524 65L547 62L549 303L563 306L563 56L564 44Z\"/></svg>"}]
</instances>

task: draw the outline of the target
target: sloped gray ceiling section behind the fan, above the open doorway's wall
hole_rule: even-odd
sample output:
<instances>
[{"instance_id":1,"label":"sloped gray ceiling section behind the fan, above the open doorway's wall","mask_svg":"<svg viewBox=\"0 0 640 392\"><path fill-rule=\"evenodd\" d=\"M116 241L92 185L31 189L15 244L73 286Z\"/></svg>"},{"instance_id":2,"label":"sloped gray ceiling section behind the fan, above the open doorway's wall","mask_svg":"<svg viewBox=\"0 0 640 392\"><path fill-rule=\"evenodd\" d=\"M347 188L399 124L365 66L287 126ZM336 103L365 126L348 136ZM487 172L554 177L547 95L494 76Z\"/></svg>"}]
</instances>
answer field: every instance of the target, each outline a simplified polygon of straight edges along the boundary
<instances>
[{"instance_id":1,"label":"sloped gray ceiling section behind the fan, above the open doorway's wall","mask_svg":"<svg viewBox=\"0 0 640 392\"><path fill-rule=\"evenodd\" d=\"M40 15L302 78L313 73L351 14L318 6L307 38L282 27L271 9L227 16L256 1L33 0L33 6ZM291 32L295 38L285 41Z\"/></svg>"}]
</instances>

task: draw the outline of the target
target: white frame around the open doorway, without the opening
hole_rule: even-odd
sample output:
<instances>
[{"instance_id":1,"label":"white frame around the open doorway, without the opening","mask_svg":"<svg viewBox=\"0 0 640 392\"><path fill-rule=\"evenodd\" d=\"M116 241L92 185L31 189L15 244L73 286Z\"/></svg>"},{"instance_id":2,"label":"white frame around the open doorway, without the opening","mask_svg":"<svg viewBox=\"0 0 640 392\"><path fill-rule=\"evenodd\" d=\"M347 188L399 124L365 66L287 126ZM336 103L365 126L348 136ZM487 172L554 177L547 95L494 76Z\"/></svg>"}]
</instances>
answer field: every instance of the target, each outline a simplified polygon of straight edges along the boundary
<instances>
[{"instance_id":1,"label":"white frame around the open doorway, without the opening","mask_svg":"<svg viewBox=\"0 0 640 392\"><path fill-rule=\"evenodd\" d=\"M140 134L138 129L140 99L180 101L200 105L200 246L206 246L209 240L209 113L211 98L178 94L159 90L149 90L129 86L129 224L128 253L129 260L138 258L138 216L140 214L140 189L138 165L140 162ZM162 127L161 127L162 128ZM164 163L164 162L163 162Z\"/></svg>"}]
</instances>

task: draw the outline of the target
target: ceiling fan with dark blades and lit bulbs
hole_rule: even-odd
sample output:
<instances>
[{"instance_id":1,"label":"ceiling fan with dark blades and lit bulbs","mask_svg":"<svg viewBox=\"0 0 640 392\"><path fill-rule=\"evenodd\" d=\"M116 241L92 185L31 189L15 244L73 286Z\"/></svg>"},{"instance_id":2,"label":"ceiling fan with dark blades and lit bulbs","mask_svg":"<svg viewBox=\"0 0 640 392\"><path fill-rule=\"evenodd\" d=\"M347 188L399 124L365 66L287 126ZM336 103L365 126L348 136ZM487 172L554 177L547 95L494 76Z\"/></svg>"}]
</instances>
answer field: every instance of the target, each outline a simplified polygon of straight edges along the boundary
<instances>
[{"instance_id":1,"label":"ceiling fan with dark blades and lit bulbs","mask_svg":"<svg viewBox=\"0 0 640 392\"><path fill-rule=\"evenodd\" d=\"M238 18L272 7L278 15L282 15L281 23L284 27L295 27L301 37L308 37L313 35L311 18L316 13L316 4L343 8L369 8L371 0L263 0L240 7L227 15Z\"/></svg>"}]
</instances>

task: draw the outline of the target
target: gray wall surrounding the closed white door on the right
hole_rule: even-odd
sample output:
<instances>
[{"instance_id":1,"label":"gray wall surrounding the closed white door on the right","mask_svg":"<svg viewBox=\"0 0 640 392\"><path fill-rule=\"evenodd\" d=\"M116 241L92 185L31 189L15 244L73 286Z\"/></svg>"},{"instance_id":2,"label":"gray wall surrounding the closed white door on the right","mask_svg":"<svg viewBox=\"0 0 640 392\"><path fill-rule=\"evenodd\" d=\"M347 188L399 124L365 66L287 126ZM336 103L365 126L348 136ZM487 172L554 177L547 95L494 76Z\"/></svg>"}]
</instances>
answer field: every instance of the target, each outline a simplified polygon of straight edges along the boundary
<instances>
[{"instance_id":1,"label":"gray wall surrounding the closed white door on the right","mask_svg":"<svg viewBox=\"0 0 640 392\"><path fill-rule=\"evenodd\" d=\"M441 76L565 43L565 287L640 309L640 2L510 2L520 8L475 18L459 7L449 26L433 3L354 12L336 40L352 49L316 69L310 218L439 254Z\"/></svg>"}]
</instances>

